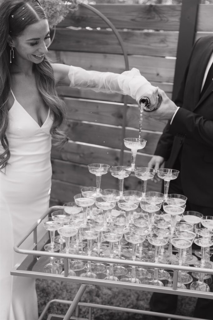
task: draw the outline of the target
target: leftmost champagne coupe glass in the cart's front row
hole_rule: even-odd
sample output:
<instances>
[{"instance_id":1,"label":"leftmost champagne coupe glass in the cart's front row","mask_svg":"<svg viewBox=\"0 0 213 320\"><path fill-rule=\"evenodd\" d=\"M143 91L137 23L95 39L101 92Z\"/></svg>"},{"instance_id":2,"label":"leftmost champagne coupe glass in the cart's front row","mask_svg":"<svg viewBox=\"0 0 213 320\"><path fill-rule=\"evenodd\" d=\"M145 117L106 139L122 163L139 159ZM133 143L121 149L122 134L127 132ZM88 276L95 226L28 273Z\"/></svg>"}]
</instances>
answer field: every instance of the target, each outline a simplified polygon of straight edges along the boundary
<instances>
[{"instance_id":1,"label":"leftmost champagne coupe glass in the cart's front row","mask_svg":"<svg viewBox=\"0 0 213 320\"><path fill-rule=\"evenodd\" d=\"M55 231L59 226L62 225L61 222L54 221L52 218L45 218L42 220L42 225L43 227L49 231L50 234L50 244L46 244L44 246L45 251L49 252L55 252L58 251L59 248L58 246L54 243L54 236L55 236ZM50 257L50 262L47 263L44 268L43 272L45 273L54 273L54 274L61 274L62 272L62 267L60 264L55 262L54 257Z\"/></svg>"}]
</instances>

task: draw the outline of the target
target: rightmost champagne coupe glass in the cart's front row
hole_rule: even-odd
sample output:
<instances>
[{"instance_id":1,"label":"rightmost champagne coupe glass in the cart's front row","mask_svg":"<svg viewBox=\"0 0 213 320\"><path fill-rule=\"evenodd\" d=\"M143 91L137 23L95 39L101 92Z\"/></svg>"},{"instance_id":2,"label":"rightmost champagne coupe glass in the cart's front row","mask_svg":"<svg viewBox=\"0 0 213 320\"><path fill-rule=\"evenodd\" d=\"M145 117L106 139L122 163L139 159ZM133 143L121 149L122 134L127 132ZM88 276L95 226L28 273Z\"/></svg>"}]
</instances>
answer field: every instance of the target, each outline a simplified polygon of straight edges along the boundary
<instances>
[{"instance_id":1,"label":"rightmost champagne coupe glass in the cart's front row","mask_svg":"<svg viewBox=\"0 0 213 320\"><path fill-rule=\"evenodd\" d=\"M201 247L201 268L204 268L206 264L206 249L213 245L213 232L208 229L205 231L198 230L197 235L194 238L194 243ZM198 278L198 281L194 281L190 284L190 289L209 292L209 285L203 281L203 277L204 273L202 272Z\"/></svg>"}]
</instances>

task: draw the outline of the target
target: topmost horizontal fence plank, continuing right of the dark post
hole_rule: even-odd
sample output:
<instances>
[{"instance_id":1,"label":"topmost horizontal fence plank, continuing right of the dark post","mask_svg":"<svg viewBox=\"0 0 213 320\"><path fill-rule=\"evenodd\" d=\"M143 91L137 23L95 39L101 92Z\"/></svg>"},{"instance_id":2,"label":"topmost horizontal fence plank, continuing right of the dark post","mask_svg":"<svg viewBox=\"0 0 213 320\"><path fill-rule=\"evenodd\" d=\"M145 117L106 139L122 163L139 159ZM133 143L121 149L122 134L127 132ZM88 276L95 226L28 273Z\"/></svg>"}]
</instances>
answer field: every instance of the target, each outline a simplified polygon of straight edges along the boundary
<instances>
[{"instance_id":1,"label":"topmost horizontal fence plank, continuing right of the dark post","mask_svg":"<svg viewBox=\"0 0 213 320\"><path fill-rule=\"evenodd\" d=\"M179 30L181 5L96 4L116 28ZM118 14L119 12L119 14ZM213 4L200 4L197 31L212 31ZM106 22L87 8L79 6L69 13L58 27L106 28Z\"/></svg>"}]
</instances>

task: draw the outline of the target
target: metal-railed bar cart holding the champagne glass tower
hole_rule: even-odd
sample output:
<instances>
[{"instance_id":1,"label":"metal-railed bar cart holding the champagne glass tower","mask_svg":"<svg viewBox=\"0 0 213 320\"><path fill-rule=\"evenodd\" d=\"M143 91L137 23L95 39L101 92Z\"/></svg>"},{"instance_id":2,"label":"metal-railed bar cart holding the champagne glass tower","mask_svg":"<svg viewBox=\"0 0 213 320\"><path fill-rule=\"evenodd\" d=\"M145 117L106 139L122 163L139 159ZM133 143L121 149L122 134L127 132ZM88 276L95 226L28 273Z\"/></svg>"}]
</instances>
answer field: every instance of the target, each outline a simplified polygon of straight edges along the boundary
<instances>
[{"instance_id":1,"label":"metal-railed bar cart holding the champagne glass tower","mask_svg":"<svg viewBox=\"0 0 213 320\"><path fill-rule=\"evenodd\" d=\"M143 310L134 310L134 309L127 309L127 308L116 308L112 306L103 306L103 305L93 305L93 304L86 304L86 303L79 303L81 296L83 295L87 286L90 285L99 285L99 286L108 286L108 287L117 287L123 289L133 289L133 290L141 290L141 291L148 291L148 292L161 292L161 293L169 293L169 294L176 294L182 296L191 296L197 298L208 298L213 299L213 290L211 288L210 292L202 292L202 291L194 291L188 289L179 289L177 288L178 283L178 270L187 271L187 272L201 272L201 273L208 273L213 274L213 269L207 268L195 268L195 267L185 267L185 266L178 266L178 265L170 265L170 264L163 264L163 263L151 263L151 262L141 262L141 261L132 261L132 260L122 260L122 265L128 266L140 266L140 267L148 267L148 268L164 268L173 270L173 281L171 287L159 287L155 285L149 284L137 284L137 283L130 283L130 282L120 282L120 281L110 281L110 280L103 280L103 279L93 279L87 277L80 277L80 276L69 276L68 275L68 258L69 259L78 259L78 260L90 260L95 262L101 263L115 263L121 264L121 260L119 259L110 259L110 258L103 258L103 257L95 257L87 255L76 255L76 254L65 254L65 253L58 253L58 252L46 252L43 250L45 244L49 243L49 233L47 232L40 241L37 241L37 229L41 228L41 221L52 212L56 210L62 210L63 206L53 206L50 207L47 212L45 212L41 218L34 223L32 228L28 231L28 233L19 241L18 244L14 246L14 250L19 253L26 254L26 258L20 263L17 264L12 270L11 275L13 276L26 276L32 278L41 278L41 279L49 279L49 280L59 280L59 281L67 281L72 283L80 284L80 288L75 295L75 298L72 302L70 301L63 301L63 300L54 300L53 302L60 302L70 304L70 307L67 310L66 315L64 316L64 320L70 319L74 310L79 305L88 306L89 308L106 308L111 310L117 311L127 311L127 312L135 312L140 314L146 315L155 315L155 316L163 316L165 318L176 318L176 319L185 319L185 320L198 320L198 318L186 317L186 316L176 316L171 314L159 314L156 312L151 311L143 311ZM23 247L24 241L33 234L33 242L31 250L20 249L20 246ZM41 266L39 267L39 259L41 260L42 257L55 257L55 258L63 258L64 259L64 275L61 274L50 274L42 272ZM51 301L49 302L51 303ZM48 305L43 310L39 320L42 320L44 314L47 311ZM91 309L90 309L91 310ZM73 317L73 319L80 319ZM91 319L91 318L90 318ZM200 319L200 318L199 318Z\"/></svg>"}]
</instances>

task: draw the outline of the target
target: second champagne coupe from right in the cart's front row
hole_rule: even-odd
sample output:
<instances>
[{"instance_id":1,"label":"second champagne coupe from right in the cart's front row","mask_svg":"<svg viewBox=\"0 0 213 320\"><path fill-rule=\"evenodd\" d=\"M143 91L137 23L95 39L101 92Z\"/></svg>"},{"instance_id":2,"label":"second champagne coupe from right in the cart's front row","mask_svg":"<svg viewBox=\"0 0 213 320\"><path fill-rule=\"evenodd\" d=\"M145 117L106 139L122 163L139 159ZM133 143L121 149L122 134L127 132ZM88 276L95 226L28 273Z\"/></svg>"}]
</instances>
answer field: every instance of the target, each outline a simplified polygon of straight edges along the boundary
<instances>
[{"instance_id":1,"label":"second champagne coupe from right in the cart's front row","mask_svg":"<svg viewBox=\"0 0 213 320\"><path fill-rule=\"evenodd\" d=\"M187 232L187 231L184 231ZM179 249L179 266L183 264L183 252L192 245L192 241L186 238L171 237L171 244ZM186 289L185 284L181 282L181 270L178 271L178 288Z\"/></svg>"}]
</instances>

